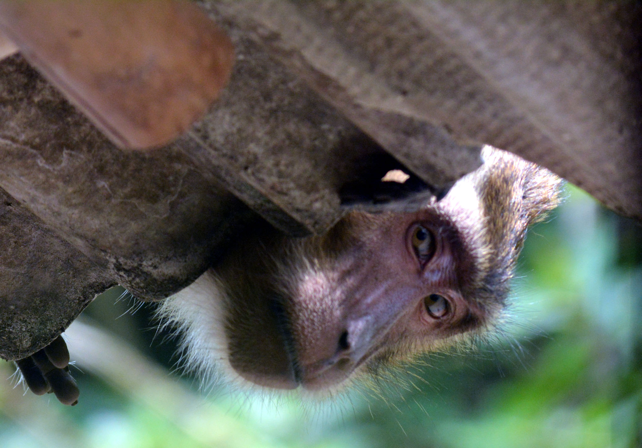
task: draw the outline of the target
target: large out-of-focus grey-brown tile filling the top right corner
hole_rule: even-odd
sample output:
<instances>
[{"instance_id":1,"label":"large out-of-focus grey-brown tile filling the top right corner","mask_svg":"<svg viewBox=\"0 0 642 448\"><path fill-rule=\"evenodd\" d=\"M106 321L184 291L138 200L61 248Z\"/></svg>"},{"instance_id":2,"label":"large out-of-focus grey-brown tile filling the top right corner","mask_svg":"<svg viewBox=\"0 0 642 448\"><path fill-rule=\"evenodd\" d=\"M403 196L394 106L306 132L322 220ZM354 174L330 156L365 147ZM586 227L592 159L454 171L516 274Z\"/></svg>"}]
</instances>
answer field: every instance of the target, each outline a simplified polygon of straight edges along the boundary
<instances>
[{"instance_id":1,"label":"large out-of-focus grey-brown tile filling the top right corner","mask_svg":"<svg viewBox=\"0 0 642 448\"><path fill-rule=\"evenodd\" d=\"M416 173L421 158L403 153L412 145L397 139L397 150L386 138L403 129L397 117L433 126L421 139L426 159L442 128L513 151L642 218L639 2L209 4Z\"/></svg>"}]
</instances>

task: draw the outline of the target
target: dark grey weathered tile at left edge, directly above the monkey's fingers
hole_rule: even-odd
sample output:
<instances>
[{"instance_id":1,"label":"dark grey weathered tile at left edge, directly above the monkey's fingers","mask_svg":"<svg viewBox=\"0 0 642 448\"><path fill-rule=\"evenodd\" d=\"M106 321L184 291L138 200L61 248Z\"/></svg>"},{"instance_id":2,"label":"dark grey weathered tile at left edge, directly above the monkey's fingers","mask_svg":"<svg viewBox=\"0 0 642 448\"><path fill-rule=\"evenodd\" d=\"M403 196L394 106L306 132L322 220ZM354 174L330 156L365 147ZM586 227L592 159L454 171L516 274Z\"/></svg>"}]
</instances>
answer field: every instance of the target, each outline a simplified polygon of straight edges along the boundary
<instances>
[{"instance_id":1,"label":"dark grey weathered tile at left edge, directly above the monkey's fingers","mask_svg":"<svg viewBox=\"0 0 642 448\"><path fill-rule=\"evenodd\" d=\"M0 358L48 345L96 295L116 284L0 189Z\"/></svg>"}]
</instances>

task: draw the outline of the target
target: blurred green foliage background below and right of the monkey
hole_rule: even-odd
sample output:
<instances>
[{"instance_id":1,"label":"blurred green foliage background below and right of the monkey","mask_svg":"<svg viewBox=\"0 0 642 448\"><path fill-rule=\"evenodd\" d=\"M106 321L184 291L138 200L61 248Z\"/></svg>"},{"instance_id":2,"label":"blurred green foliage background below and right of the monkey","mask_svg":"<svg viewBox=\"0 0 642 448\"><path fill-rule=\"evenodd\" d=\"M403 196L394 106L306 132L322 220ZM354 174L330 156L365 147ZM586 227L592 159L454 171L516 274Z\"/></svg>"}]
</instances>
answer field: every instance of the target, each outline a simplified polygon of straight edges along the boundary
<instances>
[{"instance_id":1,"label":"blurred green foliage background below and right of the monkey","mask_svg":"<svg viewBox=\"0 0 642 448\"><path fill-rule=\"evenodd\" d=\"M77 406L24 394L0 361L0 447L642 446L642 227L566 196L526 240L510 322L478 350L334 401L199 390L153 306L114 288L66 333Z\"/></svg>"}]
</instances>

